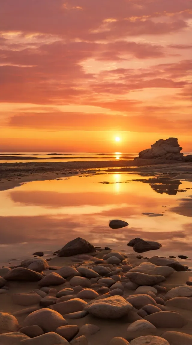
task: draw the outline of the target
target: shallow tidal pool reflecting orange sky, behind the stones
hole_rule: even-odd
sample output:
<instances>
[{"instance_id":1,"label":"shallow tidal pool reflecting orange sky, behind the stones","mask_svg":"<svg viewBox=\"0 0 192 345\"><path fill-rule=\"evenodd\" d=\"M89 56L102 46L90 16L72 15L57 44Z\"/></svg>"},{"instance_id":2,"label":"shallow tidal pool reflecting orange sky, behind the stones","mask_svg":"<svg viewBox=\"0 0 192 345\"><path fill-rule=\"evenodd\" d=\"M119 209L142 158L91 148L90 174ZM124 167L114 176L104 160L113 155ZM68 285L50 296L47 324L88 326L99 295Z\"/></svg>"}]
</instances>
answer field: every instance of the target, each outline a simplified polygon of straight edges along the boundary
<instances>
[{"instance_id":1,"label":"shallow tidal pool reflecting orange sky, behind the stones","mask_svg":"<svg viewBox=\"0 0 192 345\"><path fill-rule=\"evenodd\" d=\"M37 250L57 250L78 236L125 253L132 252L127 247L130 239L142 237L162 244L160 250L144 256L190 257L192 189L187 188L192 183L132 181L148 178L98 173L34 181L1 191L0 261L25 258ZM163 216L142 214L152 212ZM112 230L110 219L125 220L129 226Z\"/></svg>"}]
</instances>

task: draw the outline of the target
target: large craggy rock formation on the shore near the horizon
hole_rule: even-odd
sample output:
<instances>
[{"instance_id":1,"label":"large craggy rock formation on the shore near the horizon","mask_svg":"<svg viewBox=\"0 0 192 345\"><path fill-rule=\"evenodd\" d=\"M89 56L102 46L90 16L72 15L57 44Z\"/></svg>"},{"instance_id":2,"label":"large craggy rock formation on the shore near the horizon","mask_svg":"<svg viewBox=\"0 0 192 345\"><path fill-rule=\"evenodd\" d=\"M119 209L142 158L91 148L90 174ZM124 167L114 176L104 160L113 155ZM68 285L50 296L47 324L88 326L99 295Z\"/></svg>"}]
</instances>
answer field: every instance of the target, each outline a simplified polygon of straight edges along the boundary
<instances>
[{"instance_id":1,"label":"large craggy rock formation on the shore near the horizon","mask_svg":"<svg viewBox=\"0 0 192 345\"><path fill-rule=\"evenodd\" d=\"M185 157L180 152L181 150L182 147L179 146L177 138L160 139L151 145L151 149L139 152L139 157L136 157L135 160L149 160L149 164L150 160L155 160L154 163L184 162Z\"/></svg>"}]
</instances>

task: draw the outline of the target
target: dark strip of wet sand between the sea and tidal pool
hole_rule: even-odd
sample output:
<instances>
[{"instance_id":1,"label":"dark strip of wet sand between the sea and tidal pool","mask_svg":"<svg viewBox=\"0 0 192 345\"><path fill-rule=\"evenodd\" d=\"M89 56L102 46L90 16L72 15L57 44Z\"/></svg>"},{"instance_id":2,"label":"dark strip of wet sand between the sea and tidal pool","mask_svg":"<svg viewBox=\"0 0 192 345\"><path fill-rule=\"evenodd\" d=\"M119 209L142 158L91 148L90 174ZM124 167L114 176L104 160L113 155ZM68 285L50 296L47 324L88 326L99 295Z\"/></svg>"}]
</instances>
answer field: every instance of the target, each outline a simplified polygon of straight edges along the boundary
<instances>
[{"instance_id":1,"label":"dark strip of wet sand between the sea and tidal pool","mask_svg":"<svg viewBox=\"0 0 192 345\"><path fill-rule=\"evenodd\" d=\"M76 162L26 162L0 164L0 190L6 190L30 181L50 180L74 174L94 173L94 169L121 172L140 172L148 175L165 174L172 178L192 181L192 162L135 166L135 162L76 161Z\"/></svg>"}]
</instances>

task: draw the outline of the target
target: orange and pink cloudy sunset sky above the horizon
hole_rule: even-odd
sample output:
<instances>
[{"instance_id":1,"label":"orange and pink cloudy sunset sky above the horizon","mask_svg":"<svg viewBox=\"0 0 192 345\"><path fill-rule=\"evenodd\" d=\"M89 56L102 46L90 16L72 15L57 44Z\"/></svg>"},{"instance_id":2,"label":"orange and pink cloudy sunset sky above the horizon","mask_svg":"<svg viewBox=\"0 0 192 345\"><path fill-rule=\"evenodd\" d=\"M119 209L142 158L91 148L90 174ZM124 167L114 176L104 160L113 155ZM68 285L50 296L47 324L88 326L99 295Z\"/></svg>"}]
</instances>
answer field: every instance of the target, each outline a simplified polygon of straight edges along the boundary
<instances>
[{"instance_id":1,"label":"orange and pink cloudy sunset sky above the horizon","mask_svg":"<svg viewBox=\"0 0 192 345\"><path fill-rule=\"evenodd\" d=\"M1 152L192 151L192 0L0 7Z\"/></svg>"}]
</instances>

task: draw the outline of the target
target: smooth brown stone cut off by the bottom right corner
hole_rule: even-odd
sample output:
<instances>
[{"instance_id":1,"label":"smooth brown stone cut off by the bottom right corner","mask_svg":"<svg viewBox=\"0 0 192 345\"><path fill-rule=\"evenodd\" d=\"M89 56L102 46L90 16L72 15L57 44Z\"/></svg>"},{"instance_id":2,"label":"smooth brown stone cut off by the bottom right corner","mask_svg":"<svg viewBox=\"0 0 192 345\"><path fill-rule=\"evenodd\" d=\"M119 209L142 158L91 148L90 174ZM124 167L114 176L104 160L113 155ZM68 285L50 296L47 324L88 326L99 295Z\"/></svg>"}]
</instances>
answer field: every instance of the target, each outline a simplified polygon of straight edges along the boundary
<instances>
[{"instance_id":1,"label":"smooth brown stone cut off by the bottom right corner","mask_svg":"<svg viewBox=\"0 0 192 345\"><path fill-rule=\"evenodd\" d=\"M162 334L162 338L166 339L171 345L191 345L192 335L174 331L168 331Z\"/></svg>"}]
</instances>

